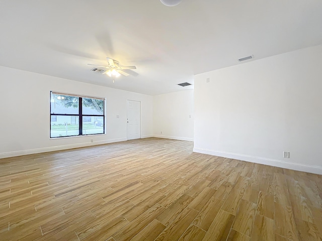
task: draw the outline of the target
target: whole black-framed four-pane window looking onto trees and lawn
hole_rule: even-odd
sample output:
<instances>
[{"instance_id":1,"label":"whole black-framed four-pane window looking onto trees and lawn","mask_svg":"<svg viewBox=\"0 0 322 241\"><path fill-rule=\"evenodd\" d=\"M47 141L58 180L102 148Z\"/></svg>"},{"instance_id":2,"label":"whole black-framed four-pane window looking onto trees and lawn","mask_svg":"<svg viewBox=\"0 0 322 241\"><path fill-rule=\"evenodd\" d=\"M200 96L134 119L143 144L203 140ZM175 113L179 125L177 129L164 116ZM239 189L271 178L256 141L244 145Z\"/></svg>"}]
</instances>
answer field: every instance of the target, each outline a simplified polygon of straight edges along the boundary
<instances>
[{"instance_id":1,"label":"whole black-framed four-pane window looking onto trees and lawn","mask_svg":"<svg viewBox=\"0 0 322 241\"><path fill-rule=\"evenodd\" d=\"M50 138L105 134L105 98L50 92Z\"/></svg>"}]
</instances>

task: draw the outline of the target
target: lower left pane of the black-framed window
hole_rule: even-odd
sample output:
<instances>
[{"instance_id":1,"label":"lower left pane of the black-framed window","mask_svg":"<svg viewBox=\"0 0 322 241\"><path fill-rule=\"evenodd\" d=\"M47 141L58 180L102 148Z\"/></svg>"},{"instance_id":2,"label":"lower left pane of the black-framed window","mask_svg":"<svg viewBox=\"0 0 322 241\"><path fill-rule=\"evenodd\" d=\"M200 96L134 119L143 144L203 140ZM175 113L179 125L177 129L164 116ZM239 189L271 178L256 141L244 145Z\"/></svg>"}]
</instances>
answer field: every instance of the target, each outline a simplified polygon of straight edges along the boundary
<instances>
[{"instance_id":1,"label":"lower left pane of the black-framed window","mask_svg":"<svg viewBox=\"0 0 322 241\"><path fill-rule=\"evenodd\" d=\"M79 117L72 115L52 115L56 121L50 122L50 137L69 137L79 135Z\"/></svg>"}]
</instances>

